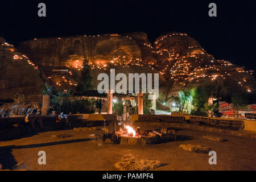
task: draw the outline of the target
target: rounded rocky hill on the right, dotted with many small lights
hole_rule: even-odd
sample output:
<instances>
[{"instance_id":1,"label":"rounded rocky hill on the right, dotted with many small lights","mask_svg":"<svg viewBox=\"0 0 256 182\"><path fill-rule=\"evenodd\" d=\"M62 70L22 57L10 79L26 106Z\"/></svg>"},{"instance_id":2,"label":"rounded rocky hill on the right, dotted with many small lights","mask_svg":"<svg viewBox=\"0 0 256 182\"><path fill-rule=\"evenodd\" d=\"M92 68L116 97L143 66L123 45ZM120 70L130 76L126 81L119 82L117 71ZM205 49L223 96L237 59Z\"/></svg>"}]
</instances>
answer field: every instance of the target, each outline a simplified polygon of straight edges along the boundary
<instances>
[{"instance_id":1,"label":"rounded rocky hill on the right, dotted with many small lights","mask_svg":"<svg viewBox=\"0 0 256 182\"><path fill-rule=\"evenodd\" d=\"M154 43L155 69L169 81L168 94L177 96L184 86L214 80L237 82L248 92L255 91L253 71L229 61L216 60L195 39L187 34L170 33L159 36Z\"/></svg>"}]
</instances>

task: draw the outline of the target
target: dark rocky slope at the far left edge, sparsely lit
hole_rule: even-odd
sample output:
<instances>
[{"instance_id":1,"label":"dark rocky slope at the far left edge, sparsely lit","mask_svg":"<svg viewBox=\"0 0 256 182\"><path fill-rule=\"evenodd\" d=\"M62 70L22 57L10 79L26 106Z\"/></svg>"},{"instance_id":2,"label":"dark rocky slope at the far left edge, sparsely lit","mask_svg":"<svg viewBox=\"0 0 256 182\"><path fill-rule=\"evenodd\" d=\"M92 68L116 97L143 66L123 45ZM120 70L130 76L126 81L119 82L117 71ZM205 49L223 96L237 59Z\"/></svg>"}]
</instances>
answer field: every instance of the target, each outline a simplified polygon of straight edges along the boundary
<instances>
[{"instance_id":1,"label":"dark rocky slope at the far left edge, sparsely lit","mask_svg":"<svg viewBox=\"0 0 256 182\"><path fill-rule=\"evenodd\" d=\"M38 67L13 45L0 44L0 99L13 99L16 93L38 101L44 84Z\"/></svg>"}]
</instances>

